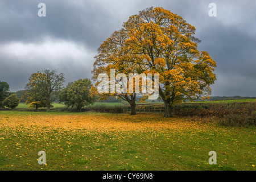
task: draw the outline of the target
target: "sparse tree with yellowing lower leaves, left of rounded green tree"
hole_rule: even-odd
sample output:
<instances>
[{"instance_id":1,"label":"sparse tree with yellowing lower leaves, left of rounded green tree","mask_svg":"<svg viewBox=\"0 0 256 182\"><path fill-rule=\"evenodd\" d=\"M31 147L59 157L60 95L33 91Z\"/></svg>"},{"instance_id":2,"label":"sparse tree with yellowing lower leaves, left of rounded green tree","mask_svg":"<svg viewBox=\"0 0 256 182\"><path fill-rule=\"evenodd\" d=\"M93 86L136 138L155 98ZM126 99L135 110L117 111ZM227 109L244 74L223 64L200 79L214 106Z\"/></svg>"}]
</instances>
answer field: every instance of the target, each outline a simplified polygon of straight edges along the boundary
<instances>
[{"instance_id":1,"label":"sparse tree with yellowing lower leaves, left of rounded green tree","mask_svg":"<svg viewBox=\"0 0 256 182\"><path fill-rule=\"evenodd\" d=\"M45 69L33 73L28 80L26 103L36 107L36 110L38 107L46 106L49 111L51 103L56 100L59 91L63 88L64 74L58 75L55 70Z\"/></svg>"}]
</instances>

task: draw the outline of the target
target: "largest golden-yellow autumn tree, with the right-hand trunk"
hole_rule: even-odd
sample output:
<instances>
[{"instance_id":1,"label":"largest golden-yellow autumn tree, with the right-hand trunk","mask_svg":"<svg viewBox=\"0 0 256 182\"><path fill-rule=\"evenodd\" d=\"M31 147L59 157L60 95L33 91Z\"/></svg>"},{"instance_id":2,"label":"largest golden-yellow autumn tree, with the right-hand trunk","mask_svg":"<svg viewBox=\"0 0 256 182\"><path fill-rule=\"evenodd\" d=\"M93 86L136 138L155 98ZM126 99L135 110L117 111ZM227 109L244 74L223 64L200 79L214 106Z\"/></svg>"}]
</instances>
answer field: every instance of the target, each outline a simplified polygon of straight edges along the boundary
<instances>
[{"instance_id":1,"label":"largest golden-yellow autumn tree, with the right-hand trunk","mask_svg":"<svg viewBox=\"0 0 256 182\"><path fill-rule=\"evenodd\" d=\"M122 45L119 39L108 39L110 46L104 51L99 49L100 55L104 55L102 60L107 61L96 60L97 67L115 64L115 68L126 72L158 73L165 117L172 117L172 107L177 103L210 96L210 84L216 80L216 62L208 52L197 50L200 40L194 36L195 27L181 16L162 7L150 7L130 16L123 23L122 34Z\"/></svg>"}]
</instances>

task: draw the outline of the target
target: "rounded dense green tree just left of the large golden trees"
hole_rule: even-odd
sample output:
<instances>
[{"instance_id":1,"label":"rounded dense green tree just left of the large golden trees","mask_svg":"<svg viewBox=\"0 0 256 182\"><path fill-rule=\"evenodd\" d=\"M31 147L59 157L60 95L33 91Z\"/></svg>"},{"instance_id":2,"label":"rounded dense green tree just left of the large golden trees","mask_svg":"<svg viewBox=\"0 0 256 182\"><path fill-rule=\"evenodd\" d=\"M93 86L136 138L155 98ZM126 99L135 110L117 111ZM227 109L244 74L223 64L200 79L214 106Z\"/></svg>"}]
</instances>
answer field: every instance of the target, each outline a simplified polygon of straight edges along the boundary
<instances>
[{"instance_id":1,"label":"rounded dense green tree just left of the large golden trees","mask_svg":"<svg viewBox=\"0 0 256 182\"><path fill-rule=\"evenodd\" d=\"M67 87L61 90L59 100L68 107L76 107L81 112L83 106L94 104L96 101L96 96L90 92L90 88L92 82L88 78L69 82Z\"/></svg>"}]
</instances>

